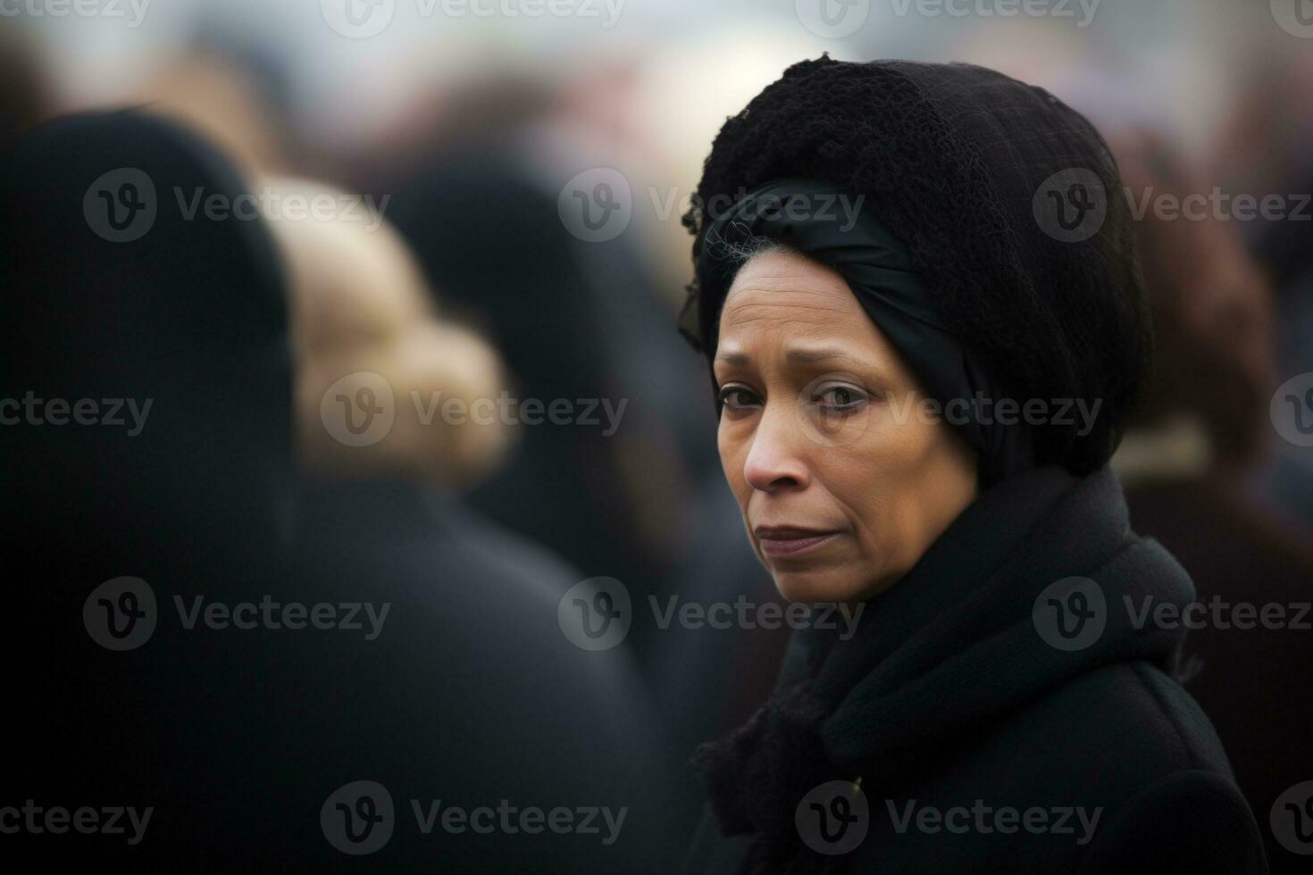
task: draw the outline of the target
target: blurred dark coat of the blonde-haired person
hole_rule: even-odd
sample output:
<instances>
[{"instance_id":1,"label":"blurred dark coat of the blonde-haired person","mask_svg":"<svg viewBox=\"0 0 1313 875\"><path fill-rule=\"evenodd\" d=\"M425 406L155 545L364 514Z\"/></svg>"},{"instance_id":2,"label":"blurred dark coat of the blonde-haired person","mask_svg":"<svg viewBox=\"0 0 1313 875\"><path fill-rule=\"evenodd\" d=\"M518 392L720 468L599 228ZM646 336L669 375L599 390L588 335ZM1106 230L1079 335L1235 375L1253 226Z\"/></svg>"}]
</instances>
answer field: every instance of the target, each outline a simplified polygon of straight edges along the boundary
<instances>
[{"instance_id":1,"label":"blurred dark coat of the blonde-haired person","mask_svg":"<svg viewBox=\"0 0 1313 875\"><path fill-rule=\"evenodd\" d=\"M318 804L357 775L386 786L395 830L376 858L390 871L656 875L679 866L671 763L628 641L590 652L558 624L578 572L452 496L406 483L307 481L297 506L295 551L316 598L386 601L391 615L360 648L295 653L315 662L307 693L326 701L291 725L331 756L295 754L301 767L280 770L289 798ZM334 712L337 725L320 727ZM330 762L332 778L319 765ZM625 820L613 833L599 813L587 834L424 834L410 800L439 799L466 809L503 799L544 811L609 807ZM289 830L285 819L278 826ZM318 829L284 840L289 870L340 863Z\"/></svg>"}]
</instances>

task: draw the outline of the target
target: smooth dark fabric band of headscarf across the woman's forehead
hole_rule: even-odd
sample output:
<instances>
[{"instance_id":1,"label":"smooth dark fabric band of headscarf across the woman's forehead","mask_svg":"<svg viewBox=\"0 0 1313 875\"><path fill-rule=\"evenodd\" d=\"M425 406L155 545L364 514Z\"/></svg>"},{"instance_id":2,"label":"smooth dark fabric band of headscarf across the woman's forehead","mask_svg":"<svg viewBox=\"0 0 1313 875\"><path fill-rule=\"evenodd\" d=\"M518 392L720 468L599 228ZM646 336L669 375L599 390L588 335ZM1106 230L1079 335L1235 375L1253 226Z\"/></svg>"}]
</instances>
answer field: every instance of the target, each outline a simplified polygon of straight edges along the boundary
<instances>
[{"instance_id":1,"label":"smooth dark fabric band of headscarf across the woman's forehead","mask_svg":"<svg viewBox=\"0 0 1313 875\"><path fill-rule=\"evenodd\" d=\"M712 222L696 258L700 321L714 346L717 315L743 245L779 240L838 272L881 333L902 354L945 421L979 453L979 483L993 485L1033 464L1029 429L981 415L1007 397L945 327L909 248L876 218L873 205L829 182L781 178L744 194Z\"/></svg>"}]
</instances>

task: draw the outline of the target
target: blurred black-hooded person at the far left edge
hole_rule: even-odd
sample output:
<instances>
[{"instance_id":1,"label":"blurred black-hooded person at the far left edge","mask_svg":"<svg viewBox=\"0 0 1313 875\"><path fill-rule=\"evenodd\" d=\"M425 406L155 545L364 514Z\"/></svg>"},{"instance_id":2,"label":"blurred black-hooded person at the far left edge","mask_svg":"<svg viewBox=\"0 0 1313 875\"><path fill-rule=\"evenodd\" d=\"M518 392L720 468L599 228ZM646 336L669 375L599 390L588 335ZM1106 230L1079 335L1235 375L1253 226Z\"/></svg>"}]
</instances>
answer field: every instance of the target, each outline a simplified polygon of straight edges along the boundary
<instances>
[{"instance_id":1,"label":"blurred black-hooded person at the far left edge","mask_svg":"<svg viewBox=\"0 0 1313 875\"><path fill-rule=\"evenodd\" d=\"M0 165L0 397L25 401L0 428L0 537L26 590L0 641L25 666L4 804L140 812L118 834L5 836L51 862L231 870L294 842L277 778L314 739L288 716L318 682L306 638L196 613L297 589L282 273L263 224L185 216L194 189L247 193L139 113L45 123Z\"/></svg>"}]
</instances>

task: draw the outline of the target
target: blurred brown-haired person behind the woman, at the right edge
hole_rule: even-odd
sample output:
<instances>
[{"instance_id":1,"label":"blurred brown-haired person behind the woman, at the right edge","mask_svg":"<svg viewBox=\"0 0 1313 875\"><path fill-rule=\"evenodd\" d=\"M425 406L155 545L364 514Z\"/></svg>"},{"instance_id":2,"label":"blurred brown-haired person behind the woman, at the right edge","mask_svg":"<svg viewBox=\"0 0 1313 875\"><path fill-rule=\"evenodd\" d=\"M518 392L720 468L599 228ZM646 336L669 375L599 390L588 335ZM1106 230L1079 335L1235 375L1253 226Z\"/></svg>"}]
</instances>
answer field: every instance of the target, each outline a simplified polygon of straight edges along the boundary
<instances>
[{"instance_id":1,"label":"blurred brown-haired person behind the woman, at the right edge","mask_svg":"<svg viewBox=\"0 0 1313 875\"><path fill-rule=\"evenodd\" d=\"M1113 150L1133 199L1203 203L1207 186L1161 138L1127 132ZM1136 240L1154 378L1112 467L1136 531L1195 581L1195 609L1173 621L1191 628L1186 689L1255 815L1288 823L1283 794L1313 777L1313 617L1300 618L1313 601L1313 547L1247 488L1275 441L1272 290L1234 222L1217 215L1150 209ZM1263 834L1274 872L1305 871L1271 829Z\"/></svg>"}]
</instances>

